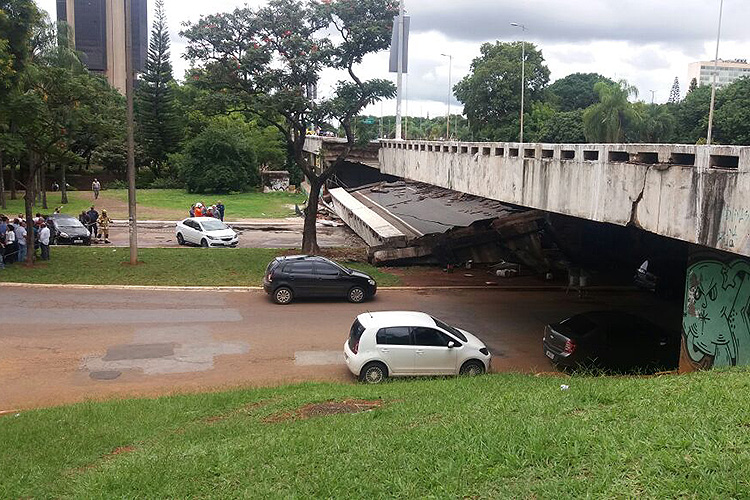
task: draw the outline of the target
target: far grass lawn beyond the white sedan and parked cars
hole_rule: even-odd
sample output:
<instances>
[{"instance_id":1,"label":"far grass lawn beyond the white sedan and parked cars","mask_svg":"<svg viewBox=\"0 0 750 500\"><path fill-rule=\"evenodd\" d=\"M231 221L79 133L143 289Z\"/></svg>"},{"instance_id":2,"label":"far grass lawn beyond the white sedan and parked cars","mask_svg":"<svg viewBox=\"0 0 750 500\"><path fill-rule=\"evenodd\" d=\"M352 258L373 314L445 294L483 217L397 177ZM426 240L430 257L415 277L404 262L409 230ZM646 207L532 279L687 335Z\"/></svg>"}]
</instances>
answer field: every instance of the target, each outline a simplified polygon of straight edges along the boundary
<instances>
[{"instance_id":1,"label":"far grass lawn beyond the white sedan and parked cars","mask_svg":"<svg viewBox=\"0 0 750 500\"><path fill-rule=\"evenodd\" d=\"M291 193L242 193L233 195L198 195L188 194L178 189L140 189L137 192L138 218L141 220L177 220L188 216L193 203L213 204L218 200L226 206L226 219L272 219L294 216L294 205L305 202L304 194ZM90 191L71 191L68 193L67 205L63 213L79 214L82 210L95 204L101 211L106 208L113 219L127 219L128 192L125 189L102 191L99 199L94 201ZM34 207L34 213L52 213L60 206L60 193L47 193L47 210ZM25 211L24 201L8 200L8 208L0 210L15 216Z\"/></svg>"}]
</instances>

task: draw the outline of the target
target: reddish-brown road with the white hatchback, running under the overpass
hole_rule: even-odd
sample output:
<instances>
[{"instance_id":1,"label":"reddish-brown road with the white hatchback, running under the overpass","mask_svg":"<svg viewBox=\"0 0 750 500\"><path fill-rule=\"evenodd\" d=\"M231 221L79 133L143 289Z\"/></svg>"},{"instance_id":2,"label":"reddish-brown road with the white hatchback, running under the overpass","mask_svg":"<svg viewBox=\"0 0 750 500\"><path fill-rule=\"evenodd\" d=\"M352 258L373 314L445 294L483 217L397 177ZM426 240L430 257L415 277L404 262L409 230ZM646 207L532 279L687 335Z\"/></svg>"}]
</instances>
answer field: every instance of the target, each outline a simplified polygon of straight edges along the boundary
<instances>
[{"instance_id":1,"label":"reddish-brown road with the white hatchback, running under the overpass","mask_svg":"<svg viewBox=\"0 0 750 500\"><path fill-rule=\"evenodd\" d=\"M679 325L680 307L643 293L383 290L372 302L277 306L263 292L123 291L0 285L0 411L309 380L353 383L341 355L354 317L419 310L469 330L493 370L550 371L546 323L587 310ZM665 326L670 326L665 324Z\"/></svg>"}]
</instances>

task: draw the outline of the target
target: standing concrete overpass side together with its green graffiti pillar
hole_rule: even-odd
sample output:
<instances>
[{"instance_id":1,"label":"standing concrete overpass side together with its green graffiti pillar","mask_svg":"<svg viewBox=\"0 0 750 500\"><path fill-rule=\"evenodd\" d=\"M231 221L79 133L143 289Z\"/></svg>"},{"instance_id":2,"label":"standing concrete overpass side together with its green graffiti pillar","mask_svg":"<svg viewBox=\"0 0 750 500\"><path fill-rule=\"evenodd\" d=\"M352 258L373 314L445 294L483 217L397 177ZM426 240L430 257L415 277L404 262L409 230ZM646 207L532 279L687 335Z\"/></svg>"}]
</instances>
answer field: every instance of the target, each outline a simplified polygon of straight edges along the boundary
<instances>
[{"instance_id":1,"label":"standing concrete overpass side together with its green graffiti pillar","mask_svg":"<svg viewBox=\"0 0 750 500\"><path fill-rule=\"evenodd\" d=\"M384 140L367 156L392 176L691 244L681 369L750 365L750 147Z\"/></svg>"}]
</instances>

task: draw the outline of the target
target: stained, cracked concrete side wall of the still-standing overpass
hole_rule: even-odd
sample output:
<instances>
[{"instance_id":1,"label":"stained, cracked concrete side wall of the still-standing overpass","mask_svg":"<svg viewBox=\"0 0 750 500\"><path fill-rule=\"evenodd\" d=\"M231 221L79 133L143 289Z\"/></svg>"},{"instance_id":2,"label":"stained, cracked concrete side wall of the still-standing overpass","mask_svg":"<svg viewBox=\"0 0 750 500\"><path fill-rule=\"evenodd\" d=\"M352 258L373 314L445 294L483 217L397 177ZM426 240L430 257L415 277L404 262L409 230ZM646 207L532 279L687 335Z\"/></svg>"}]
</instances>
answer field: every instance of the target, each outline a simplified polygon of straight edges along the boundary
<instances>
[{"instance_id":1,"label":"stained, cracked concrete side wall of the still-standing overpass","mask_svg":"<svg viewBox=\"0 0 750 500\"><path fill-rule=\"evenodd\" d=\"M382 141L381 171L750 256L750 147Z\"/></svg>"}]
</instances>

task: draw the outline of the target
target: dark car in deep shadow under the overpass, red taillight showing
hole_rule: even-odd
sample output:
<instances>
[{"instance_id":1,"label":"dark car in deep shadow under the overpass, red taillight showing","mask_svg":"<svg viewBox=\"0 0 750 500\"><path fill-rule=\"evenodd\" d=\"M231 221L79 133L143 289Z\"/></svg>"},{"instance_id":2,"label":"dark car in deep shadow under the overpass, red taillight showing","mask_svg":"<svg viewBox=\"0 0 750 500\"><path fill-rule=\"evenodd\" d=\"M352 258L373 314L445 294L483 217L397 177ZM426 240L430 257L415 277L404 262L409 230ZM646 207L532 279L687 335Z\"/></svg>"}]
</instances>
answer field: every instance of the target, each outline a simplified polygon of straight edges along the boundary
<instances>
[{"instance_id":1,"label":"dark car in deep shadow under the overpass, red taillight showing","mask_svg":"<svg viewBox=\"0 0 750 500\"><path fill-rule=\"evenodd\" d=\"M544 331L544 355L560 368L613 372L673 370L679 363L679 335L618 311L578 314Z\"/></svg>"}]
</instances>

